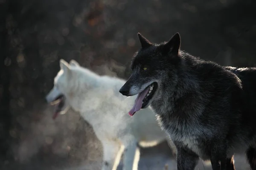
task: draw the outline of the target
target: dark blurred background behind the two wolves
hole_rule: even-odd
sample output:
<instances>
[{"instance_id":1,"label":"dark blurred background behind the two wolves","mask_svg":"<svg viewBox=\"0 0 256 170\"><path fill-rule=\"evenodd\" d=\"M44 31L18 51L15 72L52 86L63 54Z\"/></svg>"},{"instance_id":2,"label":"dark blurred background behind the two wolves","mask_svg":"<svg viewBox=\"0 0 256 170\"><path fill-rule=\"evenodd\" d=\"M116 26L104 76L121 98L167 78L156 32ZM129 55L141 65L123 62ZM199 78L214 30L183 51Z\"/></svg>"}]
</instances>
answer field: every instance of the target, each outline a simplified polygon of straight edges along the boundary
<instances>
[{"instance_id":1,"label":"dark blurred background behind the two wolves","mask_svg":"<svg viewBox=\"0 0 256 170\"><path fill-rule=\"evenodd\" d=\"M44 100L59 59L126 79L137 32L152 42L179 32L192 55L255 66L255 9L254 0L0 0L0 169L99 169L90 125L72 110L53 121Z\"/></svg>"}]
</instances>

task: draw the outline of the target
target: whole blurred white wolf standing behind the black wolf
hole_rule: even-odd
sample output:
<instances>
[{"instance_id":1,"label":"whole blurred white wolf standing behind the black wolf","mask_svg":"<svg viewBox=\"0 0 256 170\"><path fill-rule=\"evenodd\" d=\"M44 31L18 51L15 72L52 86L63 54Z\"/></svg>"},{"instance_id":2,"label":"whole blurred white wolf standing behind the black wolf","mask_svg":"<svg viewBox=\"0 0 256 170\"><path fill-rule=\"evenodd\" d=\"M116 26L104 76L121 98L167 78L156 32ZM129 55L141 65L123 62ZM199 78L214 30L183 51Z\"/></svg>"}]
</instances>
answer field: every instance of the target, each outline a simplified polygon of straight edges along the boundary
<instances>
[{"instance_id":1,"label":"whole blurred white wolf standing behind the black wolf","mask_svg":"<svg viewBox=\"0 0 256 170\"><path fill-rule=\"evenodd\" d=\"M54 118L71 106L92 125L103 145L102 170L116 170L123 152L123 170L136 170L137 144L147 147L167 140L174 147L151 110L141 110L136 119L128 115L136 96L119 93L124 80L99 76L74 60L69 64L61 59L60 68L47 102L55 105Z\"/></svg>"}]
</instances>

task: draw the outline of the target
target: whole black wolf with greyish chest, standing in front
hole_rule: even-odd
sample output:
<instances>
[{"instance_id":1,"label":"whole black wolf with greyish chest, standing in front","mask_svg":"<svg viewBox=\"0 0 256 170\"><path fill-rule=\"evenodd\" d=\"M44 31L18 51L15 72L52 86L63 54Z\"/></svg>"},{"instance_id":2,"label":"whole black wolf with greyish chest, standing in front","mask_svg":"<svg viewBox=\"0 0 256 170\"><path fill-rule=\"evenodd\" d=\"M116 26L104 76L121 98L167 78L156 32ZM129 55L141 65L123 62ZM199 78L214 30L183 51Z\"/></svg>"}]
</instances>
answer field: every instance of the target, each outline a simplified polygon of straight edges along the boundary
<instances>
[{"instance_id":1,"label":"whole black wolf with greyish chest, standing in front","mask_svg":"<svg viewBox=\"0 0 256 170\"><path fill-rule=\"evenodd\" d=\"M234 153L246 153L256 170L256 68L222 67L193 57L179 50L179 34L160 45L139 37L142 49L120 93L142 95L153 86L138 100L141 108L151 106L175 143L177 169L194 170L201 157L213 170L234 170Z\"/></svg>"}]
</instances>

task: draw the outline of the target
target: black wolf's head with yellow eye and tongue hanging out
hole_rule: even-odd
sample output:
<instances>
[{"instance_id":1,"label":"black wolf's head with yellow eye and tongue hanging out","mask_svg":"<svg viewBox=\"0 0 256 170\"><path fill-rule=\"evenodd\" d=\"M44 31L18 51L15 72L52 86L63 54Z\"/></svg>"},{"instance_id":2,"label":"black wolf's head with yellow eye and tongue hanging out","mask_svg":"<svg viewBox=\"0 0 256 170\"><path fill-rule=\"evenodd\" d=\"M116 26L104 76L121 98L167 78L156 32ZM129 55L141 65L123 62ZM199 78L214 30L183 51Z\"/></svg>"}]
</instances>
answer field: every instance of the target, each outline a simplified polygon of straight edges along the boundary
<instances>
[{"instance_id":1,"label":"black wolf's head with yellow eye and tongue hanging out","mask_svg":"<svg viewBox=\"0 0 256 170\"><path fill-rule=\"evenodd\" d=\"M138 94L134 107L129 112L131 116L165 95L163 89L167 85L170 87L177 84L177 71L181 64L179 33L161 44L149 42L140 33L138 36L141 49L132 60L131 77L119 91L125 96Z\"/></svg>"}]
</instances>

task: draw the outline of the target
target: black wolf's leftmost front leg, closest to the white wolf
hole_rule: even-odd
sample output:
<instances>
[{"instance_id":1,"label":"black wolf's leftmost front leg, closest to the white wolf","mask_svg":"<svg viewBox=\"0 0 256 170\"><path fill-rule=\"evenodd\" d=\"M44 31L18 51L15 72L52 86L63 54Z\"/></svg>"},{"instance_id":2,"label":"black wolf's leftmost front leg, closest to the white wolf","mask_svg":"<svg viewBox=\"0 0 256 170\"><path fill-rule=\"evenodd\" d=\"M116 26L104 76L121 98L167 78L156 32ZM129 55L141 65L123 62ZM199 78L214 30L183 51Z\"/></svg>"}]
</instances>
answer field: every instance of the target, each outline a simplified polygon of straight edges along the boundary
<instances>
[{"instance_id":1,"label":"black wolf's leftmost front leg, closest to the white wolf","mask_svg":"<svg viewBox=\"0 0 256 170\"><path fill-rule=\"evenodd\" d=\"M198 164L198 155L185 147L176 146L176 149L177 170L194 170Z\"/></svg>"}]
</instances>

